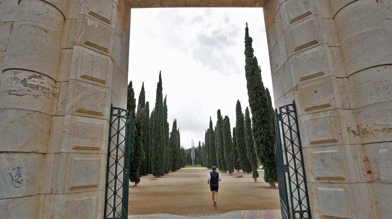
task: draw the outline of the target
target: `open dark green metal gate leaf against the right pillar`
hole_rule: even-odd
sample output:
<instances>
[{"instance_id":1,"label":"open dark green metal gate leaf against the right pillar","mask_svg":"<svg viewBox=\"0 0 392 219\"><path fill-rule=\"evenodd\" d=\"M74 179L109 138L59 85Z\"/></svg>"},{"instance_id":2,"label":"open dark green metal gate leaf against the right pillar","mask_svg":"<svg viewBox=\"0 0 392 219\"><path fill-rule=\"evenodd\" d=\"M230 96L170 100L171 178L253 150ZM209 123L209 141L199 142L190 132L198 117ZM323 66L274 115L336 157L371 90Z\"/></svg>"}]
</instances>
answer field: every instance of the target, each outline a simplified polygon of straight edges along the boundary
<instances>
[{"instance_id":1,"label":"open dark green metal gate leaf against the right pillar","mask_svg":"<svg viewBox=\"0 0 392 219\"><path fill-rule=\"evenodd\" d=\"M311 219L295 102L279 107L279 112L275 109L275 118L275 160L282 219ZM289 201L291 211L288 211Z\"/></svg>"}]
</instances>

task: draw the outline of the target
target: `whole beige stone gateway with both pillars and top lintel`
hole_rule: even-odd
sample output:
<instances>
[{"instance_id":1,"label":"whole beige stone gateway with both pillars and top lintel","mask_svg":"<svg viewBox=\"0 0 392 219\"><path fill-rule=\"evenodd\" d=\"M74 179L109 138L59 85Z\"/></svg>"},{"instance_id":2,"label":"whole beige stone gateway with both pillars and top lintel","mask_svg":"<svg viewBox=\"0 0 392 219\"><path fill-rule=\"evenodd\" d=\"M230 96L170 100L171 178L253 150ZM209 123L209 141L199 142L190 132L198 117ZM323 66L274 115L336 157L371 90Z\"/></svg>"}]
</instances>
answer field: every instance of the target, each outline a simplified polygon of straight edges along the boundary
<instances>
[{"instance_id":1,"label":"whole beige stone gateway with both pillars and top lintel","mask_svg":"<svg viewBox=\"0 0 392 219\"><path fill-rule=\"evenodd\" d=\"M298 103L313 217L392 214L390 1L0 0L4 217L102 218L132 7L264 7L275 105Z\"/></svg>"}]
</instances>

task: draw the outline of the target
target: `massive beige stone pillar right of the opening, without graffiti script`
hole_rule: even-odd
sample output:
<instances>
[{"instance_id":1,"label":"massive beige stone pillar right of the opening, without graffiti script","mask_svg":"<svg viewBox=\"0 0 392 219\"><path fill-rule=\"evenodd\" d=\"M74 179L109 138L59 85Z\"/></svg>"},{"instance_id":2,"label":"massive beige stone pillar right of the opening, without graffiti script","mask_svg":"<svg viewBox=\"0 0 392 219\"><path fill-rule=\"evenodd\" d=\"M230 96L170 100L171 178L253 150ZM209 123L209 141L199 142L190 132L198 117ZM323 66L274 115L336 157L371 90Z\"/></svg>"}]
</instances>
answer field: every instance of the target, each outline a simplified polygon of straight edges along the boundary
<instances>
[{"instance_id":1,"label":"massive beige stone pillar right of the opening, without graffiti script","mask_svg":"<svg viewBox=\"0 0 392 219\"><path fill-rule=\"evenodd\" d=\"M297 103L313 218L392 214L387 2L265 3L275 105Z\"/></svg>"}]
</instances>

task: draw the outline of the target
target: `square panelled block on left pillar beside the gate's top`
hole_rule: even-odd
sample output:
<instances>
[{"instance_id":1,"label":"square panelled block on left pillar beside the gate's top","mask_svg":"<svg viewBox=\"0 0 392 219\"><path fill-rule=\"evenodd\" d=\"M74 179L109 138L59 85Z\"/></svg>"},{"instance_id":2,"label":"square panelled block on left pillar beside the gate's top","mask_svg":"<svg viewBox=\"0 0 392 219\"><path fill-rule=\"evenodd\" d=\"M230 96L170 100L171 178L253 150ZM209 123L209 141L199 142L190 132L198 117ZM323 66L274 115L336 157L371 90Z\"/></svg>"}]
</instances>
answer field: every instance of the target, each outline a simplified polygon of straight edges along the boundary
<instances>
[{"instance_id":1,"label":"square panelled block on left pillar beside the gate's top","mask_svg":"<svg viewBox=\"0 0 392 219\"><path fill-rule=\"evenodd\" d=\"M66 114L109 119L110 89L78 80L70 80Z\"/></svg>"}]
</instances>

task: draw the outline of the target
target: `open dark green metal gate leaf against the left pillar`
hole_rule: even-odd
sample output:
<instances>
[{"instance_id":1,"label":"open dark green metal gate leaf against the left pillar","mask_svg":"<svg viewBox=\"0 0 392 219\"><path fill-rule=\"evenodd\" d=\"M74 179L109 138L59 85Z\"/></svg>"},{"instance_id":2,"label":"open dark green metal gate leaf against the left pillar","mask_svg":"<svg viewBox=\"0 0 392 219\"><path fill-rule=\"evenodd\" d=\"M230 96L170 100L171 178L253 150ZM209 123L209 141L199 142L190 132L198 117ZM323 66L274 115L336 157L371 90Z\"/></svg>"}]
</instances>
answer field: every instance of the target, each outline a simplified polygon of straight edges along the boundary
<instances>
[{"instance_id":1,"label":"open dark green metal gate leaf against the left pillar","mask_svg":"<svg viewBox=\"0 0 392 219\"><path fill-rule=\"evenodd\" d=\"M104 219L128 217L131 113L111 105Z\"/></svg>"}]
</instances>

